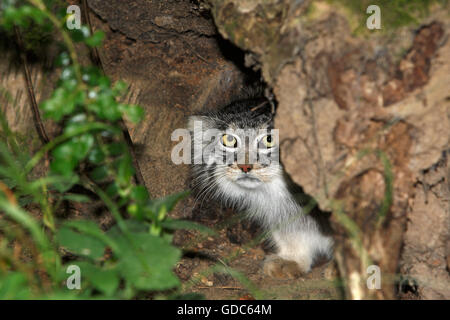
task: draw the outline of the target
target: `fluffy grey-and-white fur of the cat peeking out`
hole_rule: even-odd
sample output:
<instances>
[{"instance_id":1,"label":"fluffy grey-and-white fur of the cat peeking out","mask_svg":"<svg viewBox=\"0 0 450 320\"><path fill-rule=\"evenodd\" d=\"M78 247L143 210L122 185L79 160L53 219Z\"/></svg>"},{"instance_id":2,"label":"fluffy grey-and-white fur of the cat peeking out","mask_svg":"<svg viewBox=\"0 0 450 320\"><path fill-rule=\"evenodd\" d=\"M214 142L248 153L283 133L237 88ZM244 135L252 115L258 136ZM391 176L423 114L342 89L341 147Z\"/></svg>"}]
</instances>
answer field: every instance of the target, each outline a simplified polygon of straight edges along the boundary
<instances>
[{"instance_id":1,"label":"fluffy grey-and-white fur of the cat peeking out","mask_svg":"<svg viewBox=\"0 0 450 320\"><path fill-rule=\"evenodd\" d=\"M265 98L243 99L216 112L191 116L189 128L194 132L192 145L197 144L202 151L194 160L203 163L193 165L199 198L215 198L248 214L270 231L277 256L296 262L303 273L310 271L319 256L330 258L332 239L321 232L311 215L302 212L274 156L278 141L271 148L261 147L260 140L273 129L270 103ZM211 129L215 134L205 139ZM223 145L224 134L236 138L234 148ZM243 171L238 160L247 163L252 152L258 155L257 162L250 171Z\"/></svg>"}]
</instances>

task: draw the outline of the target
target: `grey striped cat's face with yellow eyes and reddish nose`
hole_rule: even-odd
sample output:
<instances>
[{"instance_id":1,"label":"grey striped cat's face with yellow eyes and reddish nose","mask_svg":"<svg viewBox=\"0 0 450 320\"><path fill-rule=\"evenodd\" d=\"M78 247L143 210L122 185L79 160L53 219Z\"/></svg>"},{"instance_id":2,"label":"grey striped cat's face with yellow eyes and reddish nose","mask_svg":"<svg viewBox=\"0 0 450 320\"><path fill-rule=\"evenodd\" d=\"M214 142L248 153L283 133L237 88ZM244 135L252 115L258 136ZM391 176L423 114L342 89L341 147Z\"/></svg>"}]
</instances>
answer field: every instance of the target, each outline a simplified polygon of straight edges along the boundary
<instances>
[{"instance_id":1,"label":"grey striped cat's face with yellow eyes and reddish nose","mask_svg":"<svg viewBox=\"0 0 450 320\"><path fill-rule=\"evenodd\" d=\"M200 189L245 196L281 177L278 130L272 128L271 115L222 112L191 117L189 126L194 132L194 160L198 163L202 157L202 164L194 166L194 183Z\"/></svg>"}]
</instances>

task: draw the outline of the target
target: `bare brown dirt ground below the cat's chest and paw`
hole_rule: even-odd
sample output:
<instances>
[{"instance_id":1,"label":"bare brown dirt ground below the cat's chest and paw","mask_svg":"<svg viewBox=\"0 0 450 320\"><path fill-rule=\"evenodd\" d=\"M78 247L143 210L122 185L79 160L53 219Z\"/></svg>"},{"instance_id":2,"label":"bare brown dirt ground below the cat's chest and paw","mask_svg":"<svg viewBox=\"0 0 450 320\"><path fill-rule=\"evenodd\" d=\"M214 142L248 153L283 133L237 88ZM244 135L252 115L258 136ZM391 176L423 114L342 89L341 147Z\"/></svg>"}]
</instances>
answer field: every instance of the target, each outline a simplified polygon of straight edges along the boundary
<instances>
[{"instance_id":1,"label":"bare brown dirt ground below the cat's chest and paw","mask_svg":"<svg viewBox=\"0 0 450 320\"><path fill-rule=\"evenodd\" d=\"M216 234L179 231L175 244L185 250L176 267L184 293L207 299L342 299L333 262L315 267L298 279L275 279L262 272L270 249L258 243L260 230L231 210L203 220Z\"/></svg>"}]
</instances>

